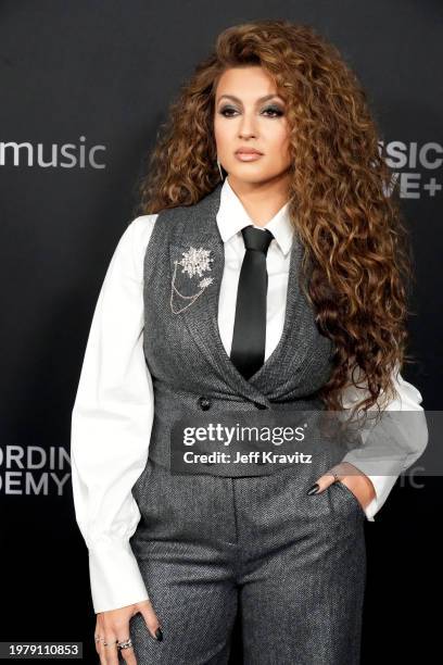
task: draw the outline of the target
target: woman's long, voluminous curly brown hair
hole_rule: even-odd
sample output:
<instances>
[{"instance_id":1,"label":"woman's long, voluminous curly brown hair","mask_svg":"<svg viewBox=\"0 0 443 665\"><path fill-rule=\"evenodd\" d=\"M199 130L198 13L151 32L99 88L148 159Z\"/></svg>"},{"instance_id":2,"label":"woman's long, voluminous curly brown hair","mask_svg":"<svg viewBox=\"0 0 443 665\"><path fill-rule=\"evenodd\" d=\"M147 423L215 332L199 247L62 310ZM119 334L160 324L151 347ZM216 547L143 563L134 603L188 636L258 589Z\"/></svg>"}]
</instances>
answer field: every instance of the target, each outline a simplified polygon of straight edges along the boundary
<instances>
[{"instance_id":1,"label":"woman's long, voluminous curly brown hair","mask_svg":"<svg viewBox=\"0 0 443 665\"><path fill-rule=\"evenodd\" d=\"M406 356L413 255L384 142L366 93L338 49L312 26L254 21L225 29L170 103L148 174L136 184L136 215L193 205L220 181L214 139L218 79L257 65L287 103L289 214L304 247L303 289L334 346L319 397L342 410L342 390L364 390L352 414L396 398ZM390 193L390 196L389 196ZM307 285L307 286L306 286ZM296 325L296 322L294 322Z\"/></svg>"}]
</instances>

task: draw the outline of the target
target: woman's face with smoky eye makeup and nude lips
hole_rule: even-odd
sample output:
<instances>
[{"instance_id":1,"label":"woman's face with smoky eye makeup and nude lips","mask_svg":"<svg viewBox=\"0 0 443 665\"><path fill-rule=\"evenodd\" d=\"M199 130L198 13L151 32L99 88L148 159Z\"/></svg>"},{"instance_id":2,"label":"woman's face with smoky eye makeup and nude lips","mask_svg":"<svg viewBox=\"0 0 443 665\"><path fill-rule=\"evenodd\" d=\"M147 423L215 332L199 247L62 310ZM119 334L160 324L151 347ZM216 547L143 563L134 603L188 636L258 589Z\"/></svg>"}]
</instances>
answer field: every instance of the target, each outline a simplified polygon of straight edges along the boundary
<instances>
[{"instance_id":1,"label":"woman's face with smoky eye makeup and nude lips","mask_svg":"<svg viewBox=\"0 0 443 665\"><path fill-rule=\"evenodd\" d=\"M286 104L262 67L223 73L215 96L214 134L218 161L231 184L258 184L286 175L291 163ZM254 159L238 154L244 147L261 154Z\"/></svg>"}]
</instances>

